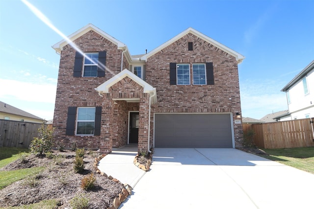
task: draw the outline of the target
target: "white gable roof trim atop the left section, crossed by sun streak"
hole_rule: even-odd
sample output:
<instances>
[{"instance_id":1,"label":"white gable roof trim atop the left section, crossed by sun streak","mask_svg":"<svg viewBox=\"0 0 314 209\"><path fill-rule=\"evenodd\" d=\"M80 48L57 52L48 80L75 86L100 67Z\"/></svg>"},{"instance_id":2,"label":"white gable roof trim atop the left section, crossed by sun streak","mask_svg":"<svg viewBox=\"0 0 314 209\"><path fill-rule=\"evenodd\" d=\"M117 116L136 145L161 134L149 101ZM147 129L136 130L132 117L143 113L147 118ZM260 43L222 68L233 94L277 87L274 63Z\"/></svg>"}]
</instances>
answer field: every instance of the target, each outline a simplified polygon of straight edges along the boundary
<instances>
[{"instance_id":1,"label":"white gable roof trim atop the left section, crossed by sun streak","mask_svg":"<svg viewBox=\"0 0 314 209\"><path fill-rule=\"evenodd\" d=\"M77 38L79 38L80 36L84 35L85 33L87 33L90 30L98 33L99 35L101 35L103 37L105 37L107 40L109 40L113 44L117 45L118 48L126 47L126 45L123 44L122 42L120 42L117 39L113 38L112 36L110 36L109 34L107 34L104 31L102 31L101 29L99 29L95 25L89 23L86 26L84 26L81 29L79 29L78 31L76 31L76 32L72 33L71 35L67 36L65 39L63 39L63 40L59 41L58 43L54 44L52 46L52 48L58 54L60 54L63 46L68 45L70 42L73 42L74 40L76 40Z\"/></svg>"}]
</instances>

